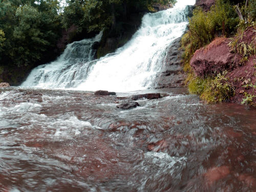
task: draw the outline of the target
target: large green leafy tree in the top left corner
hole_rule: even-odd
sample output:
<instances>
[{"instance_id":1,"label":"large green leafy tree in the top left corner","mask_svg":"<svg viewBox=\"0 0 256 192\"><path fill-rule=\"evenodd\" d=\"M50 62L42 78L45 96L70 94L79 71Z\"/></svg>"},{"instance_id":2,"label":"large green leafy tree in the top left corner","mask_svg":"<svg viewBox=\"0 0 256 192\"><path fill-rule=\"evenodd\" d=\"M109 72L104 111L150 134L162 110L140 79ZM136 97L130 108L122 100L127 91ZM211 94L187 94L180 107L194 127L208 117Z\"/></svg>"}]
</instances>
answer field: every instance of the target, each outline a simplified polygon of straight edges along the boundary
<instances>
[{"instance_id":1,"label":"large green leafy tree in the top left corner","mask_svg":"<svg viewBox=\"0 0 256 192\"><path fill-rule=\"evenodd\" d=\"M53 54L60 37L57 0L6 0L0 3L0 63L17 67L35 65L42 55Z\"/></svg>"}]
</instances>

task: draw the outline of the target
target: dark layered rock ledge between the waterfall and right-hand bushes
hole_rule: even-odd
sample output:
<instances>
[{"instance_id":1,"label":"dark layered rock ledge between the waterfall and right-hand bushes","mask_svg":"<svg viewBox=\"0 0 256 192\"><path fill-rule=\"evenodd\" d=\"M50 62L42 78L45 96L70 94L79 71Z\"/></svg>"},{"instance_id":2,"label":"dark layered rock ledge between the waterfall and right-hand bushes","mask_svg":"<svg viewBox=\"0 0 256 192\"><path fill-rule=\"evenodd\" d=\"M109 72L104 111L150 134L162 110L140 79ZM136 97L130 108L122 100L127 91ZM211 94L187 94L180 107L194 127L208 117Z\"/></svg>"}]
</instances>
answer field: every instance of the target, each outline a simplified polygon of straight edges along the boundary
<instances>
[{"instance_id":1,"label":"dark layered rock ledge between the waterfall and right-hand bushes","mask_svg":"<svg viewBox=\"0 0 256 192\"><path fill-rule=\"evenodd\" d=\"M156 75L155 89L183 87L183 81L186 78L182 69L181 56L183 51L180 50L181 37L175 39L173 44L167 49L167 55L163 61L161 71Z\"/></svg>"}]
</instances>

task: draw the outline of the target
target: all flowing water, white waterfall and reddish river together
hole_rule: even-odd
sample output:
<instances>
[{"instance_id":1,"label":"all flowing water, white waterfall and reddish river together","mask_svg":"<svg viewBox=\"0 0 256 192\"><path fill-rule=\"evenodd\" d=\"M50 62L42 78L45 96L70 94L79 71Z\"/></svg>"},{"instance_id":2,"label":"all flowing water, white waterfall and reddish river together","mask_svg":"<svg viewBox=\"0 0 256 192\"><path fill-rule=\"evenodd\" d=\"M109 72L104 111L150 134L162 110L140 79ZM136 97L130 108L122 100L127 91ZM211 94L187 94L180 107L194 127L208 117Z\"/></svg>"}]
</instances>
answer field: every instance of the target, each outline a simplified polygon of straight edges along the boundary
<instances>
[{"instance_id":1,"label":"all flowing water, white waterfall and reddish river together","mask_svg":"<svg viewBox=\"0 0 256 192\"><path fill-rule=\"evenodd\" d=\"M255 191L255 108L207 105L185 88L145 90L185 30L182 2L146 14L113 54L93 60L100 33L68 45L22 87L0 89L1 192ZM98 89L119 93L90 92ZM156 92L165 97L116 107Z\"/></svg>"}]
</instances>

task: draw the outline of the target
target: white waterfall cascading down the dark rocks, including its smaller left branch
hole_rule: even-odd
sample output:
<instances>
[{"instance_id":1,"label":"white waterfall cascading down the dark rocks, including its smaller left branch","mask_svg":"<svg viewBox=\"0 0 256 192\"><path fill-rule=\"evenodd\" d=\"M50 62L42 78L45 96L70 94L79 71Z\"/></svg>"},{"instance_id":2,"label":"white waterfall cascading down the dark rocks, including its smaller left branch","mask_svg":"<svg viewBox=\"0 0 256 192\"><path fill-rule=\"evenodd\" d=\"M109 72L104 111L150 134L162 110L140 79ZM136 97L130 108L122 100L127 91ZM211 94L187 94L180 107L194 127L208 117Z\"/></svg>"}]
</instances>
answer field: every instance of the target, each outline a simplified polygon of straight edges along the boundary
<instances>
[{"instance_id":1,"label":"white waterfall cascading down the dark rocks, including its smaller left branch","mask_svg":"<svg viewBox=\"0 0 256 192\"><path fill-rule=\"evenodd\" d=\"M93 59L92 45L102 33L68 45L54 62L35 68L22 87L109 90L126 92L147 89L161 69L166 48L187 26L187 5L179 0L172 9L145 14L132 39L113 54Z\"/></svg>"}]
</instances>

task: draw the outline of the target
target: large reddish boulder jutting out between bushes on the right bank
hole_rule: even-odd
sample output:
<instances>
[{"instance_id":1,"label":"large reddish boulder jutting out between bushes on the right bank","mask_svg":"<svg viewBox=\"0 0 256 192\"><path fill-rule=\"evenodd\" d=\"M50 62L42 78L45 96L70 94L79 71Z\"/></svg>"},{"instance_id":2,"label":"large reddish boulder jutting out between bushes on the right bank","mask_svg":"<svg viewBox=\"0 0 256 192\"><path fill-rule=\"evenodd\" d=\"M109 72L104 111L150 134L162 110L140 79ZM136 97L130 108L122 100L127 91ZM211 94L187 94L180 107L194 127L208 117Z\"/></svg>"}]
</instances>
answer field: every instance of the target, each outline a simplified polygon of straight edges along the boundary
<instances>
[{"instance_id":1,"label":"large reddish boulder jutting out between bushes on the right bank","mask_svg":"<svg viewBox=\"0 0 256 192\"><path fill-rule=\"evenodd\" d=\"M190 66L199 77L219 74L238 67L241 56L230 53L227 38L216 38L207 47L196 51L190 60Z\"/></svg>"}]
</instances>

